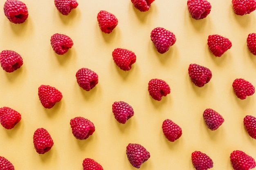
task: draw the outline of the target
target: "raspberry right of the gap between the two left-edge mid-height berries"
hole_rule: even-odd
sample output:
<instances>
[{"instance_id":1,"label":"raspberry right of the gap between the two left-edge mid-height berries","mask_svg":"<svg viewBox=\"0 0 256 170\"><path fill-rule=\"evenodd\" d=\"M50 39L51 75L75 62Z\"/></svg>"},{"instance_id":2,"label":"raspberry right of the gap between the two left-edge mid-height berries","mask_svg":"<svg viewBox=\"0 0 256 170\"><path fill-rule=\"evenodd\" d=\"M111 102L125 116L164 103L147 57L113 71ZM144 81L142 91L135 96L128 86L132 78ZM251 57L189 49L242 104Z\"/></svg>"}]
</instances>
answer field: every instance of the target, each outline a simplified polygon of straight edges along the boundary
<instances>
[{"instance_id":1,"label":"raspberry right of the gap between the two left-edge mid-height berries","mask_svg":"<svg viewBox=\"0 0 256 170\"><path fill-rule=\"evenodd\" d=\"M57 102L61 101L62 94L55 87L41 85L38 88L38 96L41 104L45 108L52 108Z\"/></svg>"}]
</instances>

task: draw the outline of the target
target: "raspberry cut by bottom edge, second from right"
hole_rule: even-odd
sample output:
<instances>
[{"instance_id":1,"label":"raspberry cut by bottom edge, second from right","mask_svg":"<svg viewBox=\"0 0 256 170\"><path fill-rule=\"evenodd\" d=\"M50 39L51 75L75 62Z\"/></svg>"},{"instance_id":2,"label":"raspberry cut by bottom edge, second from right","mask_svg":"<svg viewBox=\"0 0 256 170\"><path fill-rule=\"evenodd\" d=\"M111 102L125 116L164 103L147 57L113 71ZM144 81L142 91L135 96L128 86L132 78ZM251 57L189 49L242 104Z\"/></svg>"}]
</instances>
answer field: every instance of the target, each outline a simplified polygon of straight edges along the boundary
<instances>
[{"instance_id":1,"label":"raspberry cut by bottom edge, second from right","mask_svg":"<svg viewBox=\"0 0 256 170\"><path fill-rule=\"evenodd\" d=\"M192 152L191 159L196 170L208 170L213 167L212 159L200 151Z\"/></svg>"}]
</instances>

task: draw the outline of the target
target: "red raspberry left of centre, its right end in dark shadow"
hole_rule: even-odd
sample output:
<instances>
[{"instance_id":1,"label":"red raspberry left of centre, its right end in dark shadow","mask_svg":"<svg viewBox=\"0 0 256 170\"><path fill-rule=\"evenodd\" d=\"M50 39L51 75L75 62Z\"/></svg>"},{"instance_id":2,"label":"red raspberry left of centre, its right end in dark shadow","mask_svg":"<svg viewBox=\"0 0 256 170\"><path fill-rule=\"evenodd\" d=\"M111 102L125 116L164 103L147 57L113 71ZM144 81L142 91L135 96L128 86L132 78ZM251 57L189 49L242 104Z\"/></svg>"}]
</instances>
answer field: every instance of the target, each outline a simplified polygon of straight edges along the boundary
<instances>
[{"instance_id":1,"label":"red raspberry left of centre, its right end in dark shadow","mask_svg":"<svg viewBox=\"0 0 256 170\"><path fill-rule=\"evenodd\" d=\"M78 85L85 91L90 91L98 82L98 75L88 68L80 68L76 72L76 81Z\"/></svg>"}]
</instances>

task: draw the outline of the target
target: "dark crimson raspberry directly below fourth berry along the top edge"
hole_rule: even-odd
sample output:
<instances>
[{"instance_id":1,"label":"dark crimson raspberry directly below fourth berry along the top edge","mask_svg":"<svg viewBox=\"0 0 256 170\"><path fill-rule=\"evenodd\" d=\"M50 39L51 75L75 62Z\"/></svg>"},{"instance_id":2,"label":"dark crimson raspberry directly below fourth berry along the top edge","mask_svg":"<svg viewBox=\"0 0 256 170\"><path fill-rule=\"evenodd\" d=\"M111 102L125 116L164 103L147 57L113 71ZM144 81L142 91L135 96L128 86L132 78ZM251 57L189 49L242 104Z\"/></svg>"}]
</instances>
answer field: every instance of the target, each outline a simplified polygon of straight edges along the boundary
<instances>
[{"instance_id":1,"label":"dark crimson raspberry directly below fourth berry along the top edge","mask_svg":"<svg viewBox=\"0 0 256 170\"><path fill-rule=\"evenodd\" d=\"M198 64L190 64L189 77L195 86L202 87L210 81L212 75L209 68Z\"/></svg>"}]
</instances>

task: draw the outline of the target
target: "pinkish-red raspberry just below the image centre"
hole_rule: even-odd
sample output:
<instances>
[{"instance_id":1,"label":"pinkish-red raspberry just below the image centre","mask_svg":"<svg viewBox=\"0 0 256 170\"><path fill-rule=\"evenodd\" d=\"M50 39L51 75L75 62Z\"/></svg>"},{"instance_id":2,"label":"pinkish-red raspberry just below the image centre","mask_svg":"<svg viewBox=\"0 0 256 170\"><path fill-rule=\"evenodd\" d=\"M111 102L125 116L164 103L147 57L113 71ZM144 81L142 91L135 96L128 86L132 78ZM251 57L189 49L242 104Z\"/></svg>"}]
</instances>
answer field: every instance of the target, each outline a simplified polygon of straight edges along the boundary
<instances>
[{"instance_id":1,"label":"pinkish-red raspberry just below the image centre","mask_svg":"<svg viewBox=\"0 0 256 170\"><path fill-rule=\"evenodd\" d=\"M125 124L126 121L134 115L132 106L122 101L112 104L112 112L117 121L121 124Z\"/></svg>"}]
</instances>

